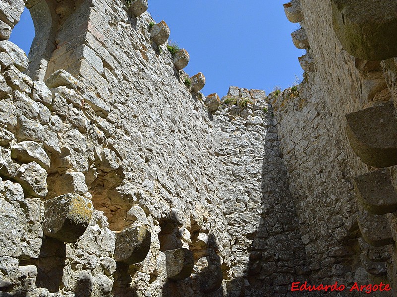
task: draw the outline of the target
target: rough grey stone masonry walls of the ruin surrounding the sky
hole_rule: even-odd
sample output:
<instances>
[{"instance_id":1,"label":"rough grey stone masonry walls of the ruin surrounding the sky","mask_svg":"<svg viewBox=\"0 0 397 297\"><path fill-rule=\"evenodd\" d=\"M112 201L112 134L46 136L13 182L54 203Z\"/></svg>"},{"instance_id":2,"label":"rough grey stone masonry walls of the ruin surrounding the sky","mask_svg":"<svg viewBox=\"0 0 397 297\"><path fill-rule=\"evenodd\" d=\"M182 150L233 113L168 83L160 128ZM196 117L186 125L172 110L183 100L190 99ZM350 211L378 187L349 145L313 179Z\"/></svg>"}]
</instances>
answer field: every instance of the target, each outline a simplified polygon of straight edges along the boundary
<instances>
[{"instance_id":1,"label":"rough grey stone masonry walls of the ruin surrounding the sky","mask_svg":"<svg viewBox=\"0 0 397 297\"><path fill-rule=\"evenodd\" d=\"M146 0L0 0L0 296L395 296L396 3L342 2L284 5L300 86L221 100Z\"/></svg>"}]
</instances>

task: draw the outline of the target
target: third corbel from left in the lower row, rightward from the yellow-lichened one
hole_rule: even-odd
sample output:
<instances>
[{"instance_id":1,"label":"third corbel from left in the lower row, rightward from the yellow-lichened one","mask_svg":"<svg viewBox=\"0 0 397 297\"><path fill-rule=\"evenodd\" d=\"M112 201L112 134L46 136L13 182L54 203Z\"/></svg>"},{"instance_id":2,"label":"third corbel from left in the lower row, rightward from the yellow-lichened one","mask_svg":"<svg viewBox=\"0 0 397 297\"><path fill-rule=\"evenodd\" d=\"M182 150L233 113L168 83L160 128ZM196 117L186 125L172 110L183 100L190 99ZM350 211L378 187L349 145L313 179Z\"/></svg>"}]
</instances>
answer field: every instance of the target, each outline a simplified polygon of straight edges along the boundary
<instances>
[{"instance_id":1,"label":"third corbel from left in the lower row, rightward from the yellow-lichened one","mask_svg":"<svg viewBox=\"0 0 397 297\"><path fill-rule=\"evenodd\" d=\"M167 258L167 278L183 280L193 272L193 252L186 248L164 251Z\"/></svg>"}]
</instances>

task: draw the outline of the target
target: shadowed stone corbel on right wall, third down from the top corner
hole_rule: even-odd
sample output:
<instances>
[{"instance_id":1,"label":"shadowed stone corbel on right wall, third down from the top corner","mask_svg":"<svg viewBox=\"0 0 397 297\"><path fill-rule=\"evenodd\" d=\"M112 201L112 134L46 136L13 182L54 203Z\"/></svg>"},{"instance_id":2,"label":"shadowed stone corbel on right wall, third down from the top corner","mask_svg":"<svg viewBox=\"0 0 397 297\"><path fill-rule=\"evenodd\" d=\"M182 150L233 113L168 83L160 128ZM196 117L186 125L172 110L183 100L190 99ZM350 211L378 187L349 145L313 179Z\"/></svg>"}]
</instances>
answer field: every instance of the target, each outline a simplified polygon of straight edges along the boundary
<instances>
[{"instance_id":1,"label":"shadowed stone corbel on right wall, third down from the top corner","mask_svg":"<svg viewBox=\"0 0 397 297\"><path fill-rule=\"evenodd\" d=\"M397 193L390 172L380 169L354 178L358 201L373 214L386 214L397 210Z\"/></svg>"}]
</instances>

